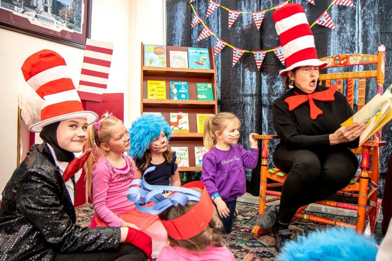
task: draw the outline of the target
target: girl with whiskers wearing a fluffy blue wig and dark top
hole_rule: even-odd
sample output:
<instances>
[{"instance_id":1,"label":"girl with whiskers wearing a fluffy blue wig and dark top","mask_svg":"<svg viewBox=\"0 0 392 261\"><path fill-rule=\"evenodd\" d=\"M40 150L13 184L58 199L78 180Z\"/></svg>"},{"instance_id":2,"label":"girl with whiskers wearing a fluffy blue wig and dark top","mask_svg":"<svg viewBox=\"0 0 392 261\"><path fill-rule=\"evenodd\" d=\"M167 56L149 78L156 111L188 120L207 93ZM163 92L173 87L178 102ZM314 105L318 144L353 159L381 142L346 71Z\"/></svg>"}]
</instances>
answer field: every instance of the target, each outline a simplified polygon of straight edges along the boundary
<instances>
[{"instance_id":1,"label":"girl with whiskers wearing a fluffy blue wig and dark top","mask_svg":"<svg viewBox=\"0 0 392 261\"><path fill-rule=\"evenodd\" d=\"M155 166L149 172L146 181L150 185L181 186L175 152L168 148L172 128L161 115L147 114L132 122L128 129L131 139L130 155L136 163L136 176L142 178L145 170Z\"/></svg>"}]
</instances>

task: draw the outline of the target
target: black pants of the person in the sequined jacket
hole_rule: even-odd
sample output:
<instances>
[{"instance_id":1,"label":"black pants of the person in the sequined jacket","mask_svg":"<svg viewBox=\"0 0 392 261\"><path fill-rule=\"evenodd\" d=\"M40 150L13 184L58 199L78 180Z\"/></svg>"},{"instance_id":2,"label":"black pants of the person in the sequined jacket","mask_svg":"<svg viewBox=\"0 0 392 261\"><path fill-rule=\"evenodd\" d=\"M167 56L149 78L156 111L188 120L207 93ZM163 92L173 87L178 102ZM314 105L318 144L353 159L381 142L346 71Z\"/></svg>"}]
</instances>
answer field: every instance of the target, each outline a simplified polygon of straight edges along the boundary
<instances>
[{"instance_id":1,"label":"black pants of the person in the sequined jacket","mask_svg":"<svg viewBox=\"0 0 392 261\"><path fill-rule=\"evenodd\" d=\"M146 254L131 244L120 244L119 249L88 253L58 253L54 261L146 261Z\"/></svg>"}]
</instances>

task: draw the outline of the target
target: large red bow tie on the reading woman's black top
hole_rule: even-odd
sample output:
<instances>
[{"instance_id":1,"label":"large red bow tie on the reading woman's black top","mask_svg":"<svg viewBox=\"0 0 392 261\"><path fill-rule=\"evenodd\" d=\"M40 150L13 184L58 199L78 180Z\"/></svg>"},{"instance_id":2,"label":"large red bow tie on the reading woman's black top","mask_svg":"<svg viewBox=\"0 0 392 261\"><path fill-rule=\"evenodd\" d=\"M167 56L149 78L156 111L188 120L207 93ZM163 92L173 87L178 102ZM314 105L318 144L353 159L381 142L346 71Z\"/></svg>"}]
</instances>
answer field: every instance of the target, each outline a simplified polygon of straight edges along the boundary
<instances>
[{"instance_id":1,"label":"large red bow tie on the reading woman's black top","mask_svg":"<svg viewBox=\"0 0 392 261\"><path fill-rule=\"evenodd\" d=\"M325 91L317 92L313 94L297 94L295 93L294 96L290 96L285 99L285 102L289 105L289 110L292 111L305 101L309 100L309 107L310 107L310 118L317 119L319 115L322 114L322 111L319 107L316 106L313 100L321 100L321 101L333 101L335 100L335 92L337 86L332 86Z\"/></svg>"}]
</instances>

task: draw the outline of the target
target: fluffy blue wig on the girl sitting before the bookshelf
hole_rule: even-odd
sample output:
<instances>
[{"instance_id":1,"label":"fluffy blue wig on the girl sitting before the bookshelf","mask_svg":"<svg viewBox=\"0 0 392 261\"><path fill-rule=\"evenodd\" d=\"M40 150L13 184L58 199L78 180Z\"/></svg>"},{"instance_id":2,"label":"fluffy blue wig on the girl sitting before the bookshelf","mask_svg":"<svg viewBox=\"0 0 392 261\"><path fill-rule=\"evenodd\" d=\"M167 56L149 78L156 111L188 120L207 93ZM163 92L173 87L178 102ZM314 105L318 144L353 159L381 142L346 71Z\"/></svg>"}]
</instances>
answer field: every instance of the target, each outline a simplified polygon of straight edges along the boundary
<instances>
[{"instance_id":1,"label":"fluffy blue wig on the girl sitting before the bookshelf","mask_svg":"<svg viewBox=\"0 0 392 261\"><path fill-rule=\"evenodd\" d=\"M128 155L134 159L142 158L151 142L161 135L161 131L165 132L168 139L172 136L172 128L161 115L147 114L133 121L128 129L131 139Z\"/></svg>"}]
</instances>

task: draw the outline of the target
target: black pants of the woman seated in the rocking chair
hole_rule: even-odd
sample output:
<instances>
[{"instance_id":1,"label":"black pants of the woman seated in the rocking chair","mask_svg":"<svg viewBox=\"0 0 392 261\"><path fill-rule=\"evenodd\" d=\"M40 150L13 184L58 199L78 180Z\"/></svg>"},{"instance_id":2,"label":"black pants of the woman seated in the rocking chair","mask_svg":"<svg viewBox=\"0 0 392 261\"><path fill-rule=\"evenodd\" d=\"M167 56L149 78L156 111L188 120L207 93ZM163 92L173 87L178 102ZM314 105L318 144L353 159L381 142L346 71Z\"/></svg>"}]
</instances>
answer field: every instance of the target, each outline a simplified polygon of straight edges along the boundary
<instances>
[{"instance_id":1,"label":"black pants of the woman seated in the rocking chair","mask_svg":"<svg viewBox=\"0 0 392 261\"><path fill-rule=\"evenodd\" d=\"M275 166L286 172L278 220L289 223L299 207L325 199L348 185L358 168L349 149L319 151L276 148Z\"/></svg>"}]
</instances>

